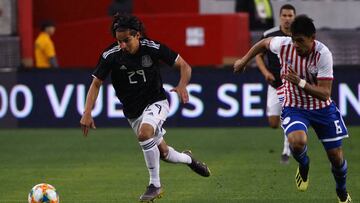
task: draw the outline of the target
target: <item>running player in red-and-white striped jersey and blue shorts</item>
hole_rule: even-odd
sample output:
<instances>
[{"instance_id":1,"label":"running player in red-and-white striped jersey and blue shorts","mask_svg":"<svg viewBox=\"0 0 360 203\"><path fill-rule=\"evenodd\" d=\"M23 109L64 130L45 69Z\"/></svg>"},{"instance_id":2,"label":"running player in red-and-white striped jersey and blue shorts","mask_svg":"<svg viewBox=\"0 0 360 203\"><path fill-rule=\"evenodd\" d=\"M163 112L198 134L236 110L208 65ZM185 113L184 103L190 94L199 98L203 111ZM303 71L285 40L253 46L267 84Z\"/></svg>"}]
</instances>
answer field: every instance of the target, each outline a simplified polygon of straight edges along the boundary
<instances>
[{"instance_id":1,"label":"running player in red-and-white striped jersey and blue shorts","mask_svg":"<svg viewBox=\"0 0 360 203\"><path fill-rule=\"evenodd\" d=\"M329 49L315 40L313 20L305 15L291 24L291 37L269 37L256 43L235 62L234 72L266 49L277 54L284 83L282 127L288 137L292 156L299 163L296 187L305 191L309 184L310 159L307 156L307 133L311 125L322 142L336 181L339 203L351 202L346 189L347 162L342 139L348 137L343 118L331 100L333 58Z\"/></svg>"}]
</instances>

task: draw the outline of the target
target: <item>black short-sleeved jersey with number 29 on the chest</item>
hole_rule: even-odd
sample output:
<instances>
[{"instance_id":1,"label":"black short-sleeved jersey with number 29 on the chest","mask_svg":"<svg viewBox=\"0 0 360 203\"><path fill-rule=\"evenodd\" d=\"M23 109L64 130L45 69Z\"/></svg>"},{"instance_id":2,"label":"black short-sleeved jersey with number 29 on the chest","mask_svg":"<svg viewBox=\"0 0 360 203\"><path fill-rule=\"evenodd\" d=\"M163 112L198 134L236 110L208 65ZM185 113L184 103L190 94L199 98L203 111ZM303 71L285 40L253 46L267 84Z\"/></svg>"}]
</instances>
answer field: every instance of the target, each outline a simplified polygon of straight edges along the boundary
<instances>
[{"instance_id":1,"label":"black short-sleeved jersey with number 29 on the chest","mask_svg":"<svg viewBox=\"0 0 360 203\"><path fill-rule=\"evenodd\" d=\"M139 50L131 55L112 44L100 56L93 76L105 80L111 74L116 96L127 118L139 117L147 105L166 99L160 61L173 66L178 53L167 46L141 38Z\"/></svg>"}]
</instances>

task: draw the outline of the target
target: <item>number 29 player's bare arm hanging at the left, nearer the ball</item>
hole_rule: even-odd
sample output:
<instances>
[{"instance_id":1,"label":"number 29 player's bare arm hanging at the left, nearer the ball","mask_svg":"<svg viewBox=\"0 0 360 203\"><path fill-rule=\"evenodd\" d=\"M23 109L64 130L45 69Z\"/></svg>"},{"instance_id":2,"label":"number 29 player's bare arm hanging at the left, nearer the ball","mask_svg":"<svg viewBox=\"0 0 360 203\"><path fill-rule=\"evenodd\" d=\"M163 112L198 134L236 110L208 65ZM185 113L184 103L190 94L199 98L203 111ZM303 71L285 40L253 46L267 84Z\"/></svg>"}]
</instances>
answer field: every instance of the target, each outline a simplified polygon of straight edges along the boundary
<instances>
[{"instance_id":1,"label":"number 29 player's bare arm hanging at the left, nearer the ball","mask_svg":"<svg viewBox=\"0 0 360 203\"><path fill-rule=\"evenodd\" d=\"M94 119L91 116L91 110L95 105L101 85L102 85L102 80L98 78L94 78L90 85L88 94L86 96L85 110L80 120L81 129L85 137L89 132L89 128L93 128L93 129L96 128Z\"/></svg>"}]
</instances>

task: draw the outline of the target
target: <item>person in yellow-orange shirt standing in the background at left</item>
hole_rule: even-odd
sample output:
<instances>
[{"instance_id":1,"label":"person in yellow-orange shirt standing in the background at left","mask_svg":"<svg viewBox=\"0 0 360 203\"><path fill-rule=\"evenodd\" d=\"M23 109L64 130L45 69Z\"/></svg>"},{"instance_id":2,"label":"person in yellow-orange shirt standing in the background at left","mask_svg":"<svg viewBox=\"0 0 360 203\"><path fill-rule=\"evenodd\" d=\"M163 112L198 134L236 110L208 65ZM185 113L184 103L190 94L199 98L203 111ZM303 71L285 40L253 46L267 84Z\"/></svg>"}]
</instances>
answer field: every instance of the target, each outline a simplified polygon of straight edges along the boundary
<instances>
[{"instance_id":1,"label":"person in yellow-orange shirt standing in the background at left","mask_svg":"<svg viewBox=\"0 0 360 203\"><path fill-rule=\"evenodd\" d=\"M51 36L55 34L55 24L52 21L44 21L41 24L41 32L35 40L35 67L57 68L59 67L54 42Z\"/></svg>"}]
</instances>

